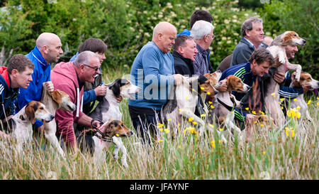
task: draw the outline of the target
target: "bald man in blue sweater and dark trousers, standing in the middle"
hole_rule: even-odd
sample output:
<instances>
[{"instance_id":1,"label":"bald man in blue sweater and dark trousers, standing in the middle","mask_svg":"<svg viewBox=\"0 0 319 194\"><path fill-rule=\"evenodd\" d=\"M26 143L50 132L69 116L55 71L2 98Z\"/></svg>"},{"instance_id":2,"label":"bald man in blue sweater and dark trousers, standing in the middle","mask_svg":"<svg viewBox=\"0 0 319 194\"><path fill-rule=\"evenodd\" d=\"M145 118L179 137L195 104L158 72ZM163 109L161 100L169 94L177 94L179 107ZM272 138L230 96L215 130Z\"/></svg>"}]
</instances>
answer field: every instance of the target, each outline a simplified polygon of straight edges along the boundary
<instances>
[{"instance_id":1,"label":"bald man in blue sweater and dark trousers, standing in the middle","mask_svg":"<svg viewBox=\"0 0 319 194\"><path fill-rule=\"evenodd\" d=\"M129 99L128 109L143 143L150 143L148 132L156 134L160 110L174 84L181 83L181 75L175 74L170 53L176 36L177 29L171 23L158 23L153 29L152 41L142 47L130 71L131 82L142 87L135 99Z\"/></svg>"}]
</instances>

